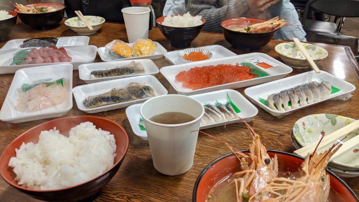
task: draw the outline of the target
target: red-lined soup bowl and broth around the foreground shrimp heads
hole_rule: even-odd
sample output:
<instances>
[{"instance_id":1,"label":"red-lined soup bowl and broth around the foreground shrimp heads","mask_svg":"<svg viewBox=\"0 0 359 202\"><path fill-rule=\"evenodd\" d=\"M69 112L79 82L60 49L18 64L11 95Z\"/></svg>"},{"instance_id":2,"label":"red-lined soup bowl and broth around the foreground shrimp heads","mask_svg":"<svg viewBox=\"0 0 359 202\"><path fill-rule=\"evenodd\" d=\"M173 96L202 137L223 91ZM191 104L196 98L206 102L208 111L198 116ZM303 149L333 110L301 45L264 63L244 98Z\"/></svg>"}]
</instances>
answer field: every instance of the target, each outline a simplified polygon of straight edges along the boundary
<instances>
[{"instance_id":1,"label":"red-lined soup bowl and broth around the foreground shrimp heads","mask_svg":"<svg viewBox=\"0 0 359 202\"><path fill-rule=\"evenodd\" d=\"M248 154L248 150L242 150L244 154ZM278 157L278 177L295 179L300 176L300 165L304 162L304 158L299 156L275 150L267 150L271 158L275 155ZM236 172L241 171L239 160L233 153L224 155L212 163L210 163L201 172L193 190L193 202L236 202L236 191L225 187L228 179ZM334 173L326 169L326 173L330 179L330 191L327 201L329 202L357 202L358 197L353 190ZM238 184L239 186L239 184ZM227 186L230 187L230 186ZM232 192L234 191L234 192ZM309 192L315 193L315 190L309 189ZM241 194L242 195L242 194ZM246 196L247 197L247 196ZM250 196L248 196L250 197ZM243 199L243 198L242 198Z\"/></svg>"}]
</instances>

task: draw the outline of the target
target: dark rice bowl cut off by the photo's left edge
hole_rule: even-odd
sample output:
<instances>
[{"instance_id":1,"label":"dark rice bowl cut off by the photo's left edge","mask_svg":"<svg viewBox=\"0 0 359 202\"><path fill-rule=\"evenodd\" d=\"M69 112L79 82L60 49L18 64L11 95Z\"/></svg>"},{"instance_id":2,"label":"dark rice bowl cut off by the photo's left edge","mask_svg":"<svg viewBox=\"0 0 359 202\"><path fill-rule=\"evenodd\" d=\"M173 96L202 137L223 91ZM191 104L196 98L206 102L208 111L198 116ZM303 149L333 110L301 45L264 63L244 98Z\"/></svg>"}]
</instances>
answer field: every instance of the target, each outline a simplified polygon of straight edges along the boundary
<instances>
[{"instance_id":1,"label":"dark rice bowl cut off by the photo's left edge","mask_svg":"<svg viewBox=\"0 0 359 202\"><path fill-rule=\"evenodd\" d=\"M9 40L9 34L13 30L18 19L14 11L0 10L0 42Z\"/></svg>"}]
</instances>

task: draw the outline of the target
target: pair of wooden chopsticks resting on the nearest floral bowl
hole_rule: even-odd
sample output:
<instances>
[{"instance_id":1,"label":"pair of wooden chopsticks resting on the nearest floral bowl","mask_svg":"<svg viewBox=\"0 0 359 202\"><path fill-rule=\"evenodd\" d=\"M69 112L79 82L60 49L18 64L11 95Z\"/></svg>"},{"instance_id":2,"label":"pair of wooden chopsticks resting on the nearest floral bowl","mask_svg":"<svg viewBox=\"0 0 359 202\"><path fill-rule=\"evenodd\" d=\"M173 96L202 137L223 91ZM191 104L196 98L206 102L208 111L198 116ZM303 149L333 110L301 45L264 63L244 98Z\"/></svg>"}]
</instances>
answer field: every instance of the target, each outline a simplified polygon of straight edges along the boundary
<instances>
[{"instance_id":1,"label":"pair of wooden chopsticks resting on the nearest floral bowl","mask_svg":"<svg viewBox=\"0 0 359 202\"><path fill-rule=\"evenodd\" d=\"M305 147L302 147L298 150L295 150L293 154L296 154L298 156L306 157L307 155L313 154L316 146L318 145L317 151L320 149L323 149L324 147L328 145L333 145L336 142L340 142L342 137L346 136L351 131L354 131L355 129L359 128L359 120L350 123L349 125L346 125L342 128L340 128L337 131L334 131L330 133L329 135L324 136L321 143L318 145L320 140L317 140L313 142L312 144L309 144ZM359 142L359 135L353 137L350 139L350 141L346 141L342 143L342 146L339 148L339 150L330 158L330 160L334 159L336 156L339 156L343 152L349 150L351 147L355 146Z\"/></svg>"}]
</instances>

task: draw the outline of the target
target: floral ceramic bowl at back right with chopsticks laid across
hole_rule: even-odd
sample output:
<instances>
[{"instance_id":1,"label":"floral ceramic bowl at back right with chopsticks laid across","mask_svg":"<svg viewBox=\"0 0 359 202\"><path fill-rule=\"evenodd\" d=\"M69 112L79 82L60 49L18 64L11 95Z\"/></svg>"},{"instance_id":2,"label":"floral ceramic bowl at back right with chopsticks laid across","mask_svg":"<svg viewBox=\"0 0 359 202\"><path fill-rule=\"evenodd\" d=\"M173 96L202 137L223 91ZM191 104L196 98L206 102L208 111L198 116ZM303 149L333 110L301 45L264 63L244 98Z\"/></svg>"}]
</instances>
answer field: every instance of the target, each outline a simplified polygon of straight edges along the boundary
<instances>
[{"instance_id":1,"label":"floral ceramic bowl at back right with chopsticks laid across","mask_svg":"<svg viewBox=\"0 0 359 202\"><path fill-rule=\"evenodd\" d=\"M328 56L328 52L319 46L309 43L302 44L315 63ZM310 67L309 62L303 56L302 52L299 51L299 48L295 47L293 42L280 43L276 45L274 49L288 66L298 69Z\"/></svg>"}]
</instances>

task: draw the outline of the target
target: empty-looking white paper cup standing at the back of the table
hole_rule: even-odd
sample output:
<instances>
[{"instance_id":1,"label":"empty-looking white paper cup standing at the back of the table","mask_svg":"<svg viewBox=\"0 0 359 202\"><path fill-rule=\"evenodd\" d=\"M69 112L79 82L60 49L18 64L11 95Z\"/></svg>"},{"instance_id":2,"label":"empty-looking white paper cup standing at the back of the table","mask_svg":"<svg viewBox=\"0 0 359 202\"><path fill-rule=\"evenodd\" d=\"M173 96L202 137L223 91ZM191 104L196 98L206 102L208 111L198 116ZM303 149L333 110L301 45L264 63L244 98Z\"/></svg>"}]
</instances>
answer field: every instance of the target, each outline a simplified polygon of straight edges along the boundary
<instances>
[{"instance_id":1,"label":"empty-looking white paper cup standing at the back of the table","mask_svg":"<svg viewBox=\"0 0 359 202\"><path fill-rule=\"evenodd\" d=\"M146 7L128 7L121 10L129 43L148 38L150 11Z\"/></svg>"}]
</instances>

